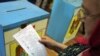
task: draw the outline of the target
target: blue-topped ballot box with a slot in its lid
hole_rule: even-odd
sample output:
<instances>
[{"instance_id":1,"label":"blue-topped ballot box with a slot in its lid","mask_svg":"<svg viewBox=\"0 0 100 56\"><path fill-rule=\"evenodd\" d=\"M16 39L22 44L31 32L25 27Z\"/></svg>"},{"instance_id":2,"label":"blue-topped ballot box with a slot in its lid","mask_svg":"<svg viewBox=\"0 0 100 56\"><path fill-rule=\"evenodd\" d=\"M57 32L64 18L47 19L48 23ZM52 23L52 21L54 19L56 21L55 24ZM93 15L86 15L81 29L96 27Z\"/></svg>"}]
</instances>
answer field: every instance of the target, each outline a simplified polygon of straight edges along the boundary
<instances>
[{"instance_id":1,"label":"blue-topped ballot box with a slot in its lid","mask_svg":"<svg viewBox=\"0 0 100 56\"><path fill-rule=\"evenodd\" d=\"M48 17L48 12L28 1L0 3L0 25L4 31L0 32L0 34L4 33L4 39L3 36L0 37L0 43L2 43L2 52L6 53L6 55L1 55L0 49L0 56L28 56L14 40L13 35L28 24L32 24L40 36L44 35Z\"/></svg>"}]
</instances>

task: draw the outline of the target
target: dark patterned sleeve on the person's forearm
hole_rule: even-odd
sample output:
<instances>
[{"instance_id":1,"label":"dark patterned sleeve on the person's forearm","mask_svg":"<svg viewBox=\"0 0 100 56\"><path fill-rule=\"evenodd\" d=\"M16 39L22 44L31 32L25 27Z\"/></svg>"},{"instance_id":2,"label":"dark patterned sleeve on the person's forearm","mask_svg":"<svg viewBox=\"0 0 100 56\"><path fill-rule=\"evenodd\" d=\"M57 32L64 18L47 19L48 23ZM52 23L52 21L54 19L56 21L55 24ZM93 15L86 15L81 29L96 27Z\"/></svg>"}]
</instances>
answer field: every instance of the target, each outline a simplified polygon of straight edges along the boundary
<instances>
[{"instance_id":1,"label":"dark patterned sleeve on the person's forearm","mask_svg":"<svg viewBox=\"0 0 100 56\"><path fill-rule=\"evenodd\" d=\"M60 51L59 56L77 56L79 53L81 53L87 48L87 46L77 43L65 48L63 51Z\"/></svg>"}]
</instances>

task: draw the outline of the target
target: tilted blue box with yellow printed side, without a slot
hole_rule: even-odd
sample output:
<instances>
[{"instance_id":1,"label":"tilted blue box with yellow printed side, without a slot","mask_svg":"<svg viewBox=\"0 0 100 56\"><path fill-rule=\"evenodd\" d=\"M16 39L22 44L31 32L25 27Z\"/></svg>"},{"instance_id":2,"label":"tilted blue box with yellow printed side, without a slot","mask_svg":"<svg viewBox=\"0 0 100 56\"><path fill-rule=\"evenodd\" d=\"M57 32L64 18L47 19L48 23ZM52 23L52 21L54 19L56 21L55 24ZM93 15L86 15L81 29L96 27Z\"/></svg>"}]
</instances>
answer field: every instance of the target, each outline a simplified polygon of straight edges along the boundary
<instances>
[{"instance_id":1,"label":"tilted blue box with yellow printed side, without a slot","mask_svg":"<svg viewBox=\"0 0 100 56\"><path fill-rule=\"evenodd\" d=\"M80 27L77 16L82 0L54 0L47 35L58 42L73 39Z\"/></svg>"}]
</instances>

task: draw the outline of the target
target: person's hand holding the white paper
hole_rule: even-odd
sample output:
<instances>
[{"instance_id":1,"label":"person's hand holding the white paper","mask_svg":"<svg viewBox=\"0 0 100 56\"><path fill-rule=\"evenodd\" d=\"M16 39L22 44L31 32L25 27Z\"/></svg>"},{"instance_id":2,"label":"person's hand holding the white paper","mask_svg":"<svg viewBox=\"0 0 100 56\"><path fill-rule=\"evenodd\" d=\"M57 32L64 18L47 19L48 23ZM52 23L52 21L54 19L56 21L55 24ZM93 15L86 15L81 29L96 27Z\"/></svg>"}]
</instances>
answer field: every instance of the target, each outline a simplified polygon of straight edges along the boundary
<instances>
[{"instance_id":1,"label":"person's hand holding the white paper","mask_svg":"<svg viewBox=\"0 0 100 56\"><path fill-rule=\"evenodd\" d=\"M50 48L54 51L62 51L66 48L66 45L56 42L48 36L44 36L41 38L40 42L44 44L47 48Z\"/></svg>"}]
</instances>

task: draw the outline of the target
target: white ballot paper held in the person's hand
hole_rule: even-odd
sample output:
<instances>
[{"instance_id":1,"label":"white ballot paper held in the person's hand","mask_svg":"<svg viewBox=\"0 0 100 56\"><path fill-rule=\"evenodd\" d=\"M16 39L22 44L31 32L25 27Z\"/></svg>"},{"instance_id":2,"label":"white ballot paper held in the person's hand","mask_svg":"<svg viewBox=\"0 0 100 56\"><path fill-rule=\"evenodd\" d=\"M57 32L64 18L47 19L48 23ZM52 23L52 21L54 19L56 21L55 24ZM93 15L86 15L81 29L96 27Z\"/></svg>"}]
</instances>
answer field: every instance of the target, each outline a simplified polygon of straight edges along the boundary
<instances>
[{"instance_id":1,"label":"white ballot paper held in the person's hand","mask_svg":"<svg viewBox=\"0 0 100 56\"><path fill-rule=\"evenodd\" d=\"M41 39L32 25L20 30L13 37L29 56L47 56L46 48L39 42Z\"/></svg>"}]
</instances>

